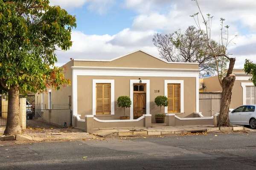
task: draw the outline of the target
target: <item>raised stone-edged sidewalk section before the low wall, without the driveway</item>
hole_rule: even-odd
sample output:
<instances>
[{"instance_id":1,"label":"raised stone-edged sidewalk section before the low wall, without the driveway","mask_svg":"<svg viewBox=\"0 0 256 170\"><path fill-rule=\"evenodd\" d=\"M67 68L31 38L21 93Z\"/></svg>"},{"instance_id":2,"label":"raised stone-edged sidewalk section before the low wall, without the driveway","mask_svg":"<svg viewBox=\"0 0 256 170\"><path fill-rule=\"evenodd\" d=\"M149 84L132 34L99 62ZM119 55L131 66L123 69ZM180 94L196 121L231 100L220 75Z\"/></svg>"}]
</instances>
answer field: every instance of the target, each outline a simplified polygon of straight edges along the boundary
<instances>
[{"instance_id":1,"label":"raised stone-edged sidewalk section before the low wall, without the driveway","mask_svg":"<svg viewBox=\"0 0 256 170\"><path fill-rule=\"evenodd\" d=\"M119 129L102 129L93 134L101 137L109 136L159 136L172 134L187 134L196 132L215 132L215 131L244 131L243 126L237 127L214 127L209 126L175 126L175 127L142 127L142 128L119 128Z\"/></svg>"}]
</instances>

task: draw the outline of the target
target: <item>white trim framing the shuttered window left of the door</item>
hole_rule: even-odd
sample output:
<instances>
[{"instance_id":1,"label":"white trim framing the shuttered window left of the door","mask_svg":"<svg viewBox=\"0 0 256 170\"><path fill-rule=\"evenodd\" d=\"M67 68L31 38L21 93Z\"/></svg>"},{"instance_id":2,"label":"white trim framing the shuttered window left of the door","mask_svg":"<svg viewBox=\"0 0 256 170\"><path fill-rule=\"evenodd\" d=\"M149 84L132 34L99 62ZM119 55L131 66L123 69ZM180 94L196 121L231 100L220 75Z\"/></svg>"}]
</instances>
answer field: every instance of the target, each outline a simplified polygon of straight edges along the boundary
<instances>
[{"instance_id":1,"label":"white trim framing the shuttered window left of the door","mask_svg":"<svg viewBox=\"0 0 256 170\"><path fill-rule=\"evenodd\" d=\"M96 83L110 83L111 85L111 115L115 114L115 80L93 79L93 115L96 115Z\"/></svg>"}]
</instances>

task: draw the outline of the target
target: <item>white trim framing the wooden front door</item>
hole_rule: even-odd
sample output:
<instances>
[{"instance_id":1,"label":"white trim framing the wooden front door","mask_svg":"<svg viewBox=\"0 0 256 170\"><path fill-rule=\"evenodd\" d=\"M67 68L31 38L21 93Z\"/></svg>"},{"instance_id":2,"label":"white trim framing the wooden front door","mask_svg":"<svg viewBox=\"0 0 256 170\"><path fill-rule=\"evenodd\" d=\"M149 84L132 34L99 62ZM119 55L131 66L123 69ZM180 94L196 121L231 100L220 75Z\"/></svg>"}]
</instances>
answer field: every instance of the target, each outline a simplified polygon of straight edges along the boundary
<instances>
[{"instance_id":1,"label":"white trim framing the wooden front door","mask_svg":"<svg viewBox=\"0 0 256 170\"><path fill-rule=\"evenodd\" d=\"M150 114L150 80L141 79L143 84L146 84L146 114ZM133 85L134 83L140 83L139 79L130 80L130 98L131 98L131 108L130 108L130 117L133 119Z\"/></svg>"}]
</instances>

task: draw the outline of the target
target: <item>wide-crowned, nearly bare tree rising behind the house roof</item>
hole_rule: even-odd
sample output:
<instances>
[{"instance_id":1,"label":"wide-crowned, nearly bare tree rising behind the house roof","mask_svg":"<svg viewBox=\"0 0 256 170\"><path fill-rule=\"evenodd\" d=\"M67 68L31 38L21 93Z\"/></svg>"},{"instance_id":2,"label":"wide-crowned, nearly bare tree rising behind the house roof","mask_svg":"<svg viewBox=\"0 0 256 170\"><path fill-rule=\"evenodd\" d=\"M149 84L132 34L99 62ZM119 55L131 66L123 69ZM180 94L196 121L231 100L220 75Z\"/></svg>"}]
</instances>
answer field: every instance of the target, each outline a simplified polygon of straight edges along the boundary
<instances>
[{"instance_id":1,"label":"wide-crowned, nearly bare tree rising behind the house roof","mask_svg":"<svg viewBox=\"0 0 256 170\"><path fill-rule=\"evenodd\" d=\"M168 62L198 62L201 77L209 73L217 74L215 61L208 54L201 52L210 49L204 43L201 31L195 26L189 26L184 34L181 33L181 30L175 31L173 34L157 34L152 41L158 48L162 59ZM220 51L221 46L218 43L214 40L211 43L215 51ZM226 59L218 57L218 61L222 68L226 68Z\"/></svg>"}]
</instances>

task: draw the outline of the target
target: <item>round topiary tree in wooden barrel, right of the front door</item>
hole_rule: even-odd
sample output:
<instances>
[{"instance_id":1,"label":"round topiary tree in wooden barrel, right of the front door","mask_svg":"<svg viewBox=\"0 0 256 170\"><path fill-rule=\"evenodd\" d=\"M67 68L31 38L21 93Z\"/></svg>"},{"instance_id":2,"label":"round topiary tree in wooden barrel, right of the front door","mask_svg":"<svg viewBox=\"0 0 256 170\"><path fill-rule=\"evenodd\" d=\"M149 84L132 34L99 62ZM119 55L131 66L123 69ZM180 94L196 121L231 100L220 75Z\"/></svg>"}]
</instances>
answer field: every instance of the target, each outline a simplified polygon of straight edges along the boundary
<instances>
[{"instance_id":1,"label":"round topiary tree in wooden barrel, right of the front door","mask_svg":"<svg viewBox=\"0 0 256 170\"><path fill-rule=\"evenodd\" d=\"M168 98L166 96L157 96L154 100L157 106L160 106L160 113L155 114L156 123L164 123L165 113L161 113L161 108L168 106Z\"/></svg>"}]
</instances>

